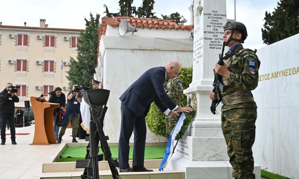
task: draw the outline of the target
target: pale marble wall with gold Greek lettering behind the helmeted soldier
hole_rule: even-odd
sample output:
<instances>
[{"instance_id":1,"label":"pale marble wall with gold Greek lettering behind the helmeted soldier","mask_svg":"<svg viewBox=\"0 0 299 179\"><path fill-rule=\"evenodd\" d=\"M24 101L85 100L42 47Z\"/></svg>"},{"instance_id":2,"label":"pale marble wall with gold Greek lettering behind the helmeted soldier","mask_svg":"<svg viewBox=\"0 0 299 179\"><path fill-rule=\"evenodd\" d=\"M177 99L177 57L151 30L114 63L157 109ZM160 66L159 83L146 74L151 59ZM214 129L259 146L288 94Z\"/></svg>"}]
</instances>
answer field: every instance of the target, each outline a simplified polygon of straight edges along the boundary
<instances>
[{"instance_id":1,"label":"pale marble wall with gold Greek lettering behind the helmeted soldier","mask_svg":"<svg viewBox=\"0 0 299 179\"><path fill-rule=\"evenodd\" d=\"M253 146L261 169L288 178L299 176L299 34L257 51L261 61L257 133Z\"/></svg>"}]
</instances>

